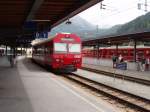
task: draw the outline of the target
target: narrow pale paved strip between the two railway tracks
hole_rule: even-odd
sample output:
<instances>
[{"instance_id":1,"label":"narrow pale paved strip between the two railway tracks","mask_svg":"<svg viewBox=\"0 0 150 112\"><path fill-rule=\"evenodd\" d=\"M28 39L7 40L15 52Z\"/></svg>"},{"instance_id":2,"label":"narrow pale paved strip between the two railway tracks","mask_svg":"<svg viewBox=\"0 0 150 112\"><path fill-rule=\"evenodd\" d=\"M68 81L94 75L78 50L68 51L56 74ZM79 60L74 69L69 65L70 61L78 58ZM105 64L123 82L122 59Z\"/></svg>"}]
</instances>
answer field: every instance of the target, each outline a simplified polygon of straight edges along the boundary
<instances>
[{"instance_id":1,"label":"narrow pale paved strip between the two railway tracks","mask_svg":"<svg viewBox=\"0 0 150 112\"><path fill-rule=\"evenodd\" d=\"M150 87L130 81L126 81L123 79L117 79L113 77L108 77L104 75L99 75L97 73L89 72L86 70L79 69L75 72L78 75L84 76L86 78L92 79L96 82L100 82L102 84L117 88L119 90L126 91L128 93L141 96L143 98L150 100Z\"/></svg>"}]
</instances>

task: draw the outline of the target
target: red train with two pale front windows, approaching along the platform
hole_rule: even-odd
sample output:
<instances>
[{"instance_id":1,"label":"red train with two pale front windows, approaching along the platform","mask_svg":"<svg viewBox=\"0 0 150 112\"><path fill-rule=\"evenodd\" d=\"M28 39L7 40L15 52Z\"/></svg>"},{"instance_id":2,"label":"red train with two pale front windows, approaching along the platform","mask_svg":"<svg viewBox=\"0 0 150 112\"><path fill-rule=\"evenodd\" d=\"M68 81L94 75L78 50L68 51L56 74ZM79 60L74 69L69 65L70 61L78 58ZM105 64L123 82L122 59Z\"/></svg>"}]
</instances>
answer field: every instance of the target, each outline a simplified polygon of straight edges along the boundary
<instances>
[{"instance_id":1,"label":"red train with two pale front windows, approaching along the platform","mask_svg":"<svg viewBox=\"0 0 150 112\"><path fill-rule=\"evenodd\" d=\"M59 33L34 44L32 58L57 71L76 71L82 63L81 39L75 34Z\"/></svg>"}]
</instances>

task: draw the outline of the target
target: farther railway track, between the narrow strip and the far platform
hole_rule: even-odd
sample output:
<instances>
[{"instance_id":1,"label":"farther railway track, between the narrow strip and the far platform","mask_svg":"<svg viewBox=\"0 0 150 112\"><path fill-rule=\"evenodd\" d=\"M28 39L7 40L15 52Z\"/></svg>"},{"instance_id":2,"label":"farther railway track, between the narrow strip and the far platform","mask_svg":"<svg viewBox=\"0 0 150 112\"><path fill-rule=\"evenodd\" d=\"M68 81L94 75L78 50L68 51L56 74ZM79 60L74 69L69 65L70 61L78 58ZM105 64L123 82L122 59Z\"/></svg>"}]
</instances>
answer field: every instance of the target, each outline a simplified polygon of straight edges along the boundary
<instances>
[{"instance_id":1,"label":"farther railway track, between the narrow strip and the far platform","mask_svg":"<svg viewBox=\"0 0 150 112\"><path fill-rule=\"evenodd\" d=\"M128 81L131 81L131 82L136 82L136 83L139 83L139 84L150 86L150 81L149 80L144 80L144 79L125 76L125 75L121 75L121 74L106 72L106 71L102 71L102 70L95 70L95 69L86 68L86 67L82 67L82 69L87 70L87 71L91 71L91 72L94 72L94 73L98 73L98 74L101 74L101 75L105 75L105 76L109 76L109 77L115 77L115 78L118 78L118 79L124 79L124 80L128 80Z\"/></svg>"}]
</instances>

